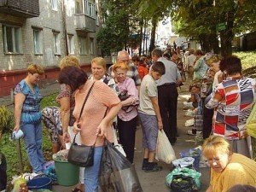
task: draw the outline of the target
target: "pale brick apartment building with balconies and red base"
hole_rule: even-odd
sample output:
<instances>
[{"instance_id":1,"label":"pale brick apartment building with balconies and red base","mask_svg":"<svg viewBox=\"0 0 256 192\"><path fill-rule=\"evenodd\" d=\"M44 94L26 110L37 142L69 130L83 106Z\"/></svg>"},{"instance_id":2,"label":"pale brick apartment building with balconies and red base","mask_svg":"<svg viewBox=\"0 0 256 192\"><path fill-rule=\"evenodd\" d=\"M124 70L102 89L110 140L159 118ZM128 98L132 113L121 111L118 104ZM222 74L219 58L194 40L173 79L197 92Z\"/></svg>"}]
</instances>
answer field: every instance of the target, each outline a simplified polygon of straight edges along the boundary
<instances>
[{"instance_id":1,"label":"pale brick apartment building with balconies and red base","mask_svg":"<svg viewBox=\"0 0 256 192\"><path fill-rule=\"evenodd\" d=\"M7 96L26 67L44 67L44 79L55 79L66 55L90 68L100 55L96 0L0 0L0 96ZM44 80L43 79L43 80Z\"/></svg>"}]
</instances>

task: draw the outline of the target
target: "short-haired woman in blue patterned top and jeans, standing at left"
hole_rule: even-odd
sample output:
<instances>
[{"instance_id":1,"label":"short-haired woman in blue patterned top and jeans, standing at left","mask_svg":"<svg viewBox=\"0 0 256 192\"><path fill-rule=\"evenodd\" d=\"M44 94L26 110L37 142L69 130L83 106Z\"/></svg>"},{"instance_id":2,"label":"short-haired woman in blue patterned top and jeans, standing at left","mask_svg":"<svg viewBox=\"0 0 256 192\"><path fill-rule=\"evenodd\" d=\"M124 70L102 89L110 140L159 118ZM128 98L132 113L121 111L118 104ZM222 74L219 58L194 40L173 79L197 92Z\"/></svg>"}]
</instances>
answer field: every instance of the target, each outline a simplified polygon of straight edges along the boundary
<instances>
[{"instance_id":1,"label":"short-haired woman in blue patterned top and jeans, standing at left","mask_svg":"<svg viewBox=\"0 0 256 192\"><path fill-rule=\"evenodd\" d=\"M42 126L40 102L42 95L38 88L42 67L30 65L26 68L26 78L15 87L15 131L24 132L26 153L32 172L42 174L44 155L42 150Z\"/></svg>"}]
</instances>

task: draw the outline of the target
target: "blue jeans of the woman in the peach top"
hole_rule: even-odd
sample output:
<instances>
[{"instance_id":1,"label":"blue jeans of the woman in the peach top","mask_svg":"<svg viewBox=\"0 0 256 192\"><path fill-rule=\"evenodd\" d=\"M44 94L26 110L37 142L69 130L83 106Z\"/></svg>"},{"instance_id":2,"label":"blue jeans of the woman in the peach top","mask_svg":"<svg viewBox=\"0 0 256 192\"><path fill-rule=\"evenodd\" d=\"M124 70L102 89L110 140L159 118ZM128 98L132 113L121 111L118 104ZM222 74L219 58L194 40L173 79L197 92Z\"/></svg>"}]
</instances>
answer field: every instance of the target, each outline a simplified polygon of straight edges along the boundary
<instances>
[{"instance_id":1,"label":"blue jeans of the woman in the peach top","mask_svg":"<svg viewBox=\"0 0 256 192\"><path fill-rule=\"evenodd\" d=\"M86 192L97 192L99 185L99 171L102 161L103 147L96 147L94 150L93 166L84 169L84 189Z\"/></svg>"}]
</instances>

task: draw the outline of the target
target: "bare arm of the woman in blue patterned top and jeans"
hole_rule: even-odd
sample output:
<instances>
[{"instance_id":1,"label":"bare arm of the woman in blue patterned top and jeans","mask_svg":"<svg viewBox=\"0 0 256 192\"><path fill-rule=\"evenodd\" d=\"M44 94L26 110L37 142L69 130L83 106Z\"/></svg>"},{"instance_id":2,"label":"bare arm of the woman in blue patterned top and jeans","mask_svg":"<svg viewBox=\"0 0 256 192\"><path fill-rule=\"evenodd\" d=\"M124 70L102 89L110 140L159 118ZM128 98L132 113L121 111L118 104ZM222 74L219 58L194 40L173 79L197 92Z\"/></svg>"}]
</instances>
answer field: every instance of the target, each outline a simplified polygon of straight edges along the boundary
<instances>
[{"instance_id":1,"label":"bare arm of the woman in blue patterned top and jeans","mask_svg":"<svg viewBox=\"0 0 256 192\"><path fill-rule=\"evenodd\" d=\"M20 130L20 116L26 96L23 93L15 95L15 131Z\"/></svg>"}]
</instances>

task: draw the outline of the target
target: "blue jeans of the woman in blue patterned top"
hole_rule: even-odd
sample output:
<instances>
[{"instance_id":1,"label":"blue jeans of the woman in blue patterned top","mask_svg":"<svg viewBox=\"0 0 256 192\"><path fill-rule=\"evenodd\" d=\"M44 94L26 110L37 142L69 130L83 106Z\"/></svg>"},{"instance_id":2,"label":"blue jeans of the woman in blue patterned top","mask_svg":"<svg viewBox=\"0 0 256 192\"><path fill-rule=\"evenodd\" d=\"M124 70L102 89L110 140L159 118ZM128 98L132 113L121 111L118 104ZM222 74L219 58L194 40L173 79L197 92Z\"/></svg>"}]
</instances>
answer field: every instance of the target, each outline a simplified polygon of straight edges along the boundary
<instances>
[{"instance_id":1,"label":"blue jeans of the woman in blue patterned top","mask_svg":"<svg viewBox=\"0 0 256 192\"><path fill-rule=\"evenodd\" d=\"M45 160L42 150L41 122L38 124L23 124L21 130L24 132L26 154L32 166L32 172L43 171Z\"/></svg>"}]
</instances>

